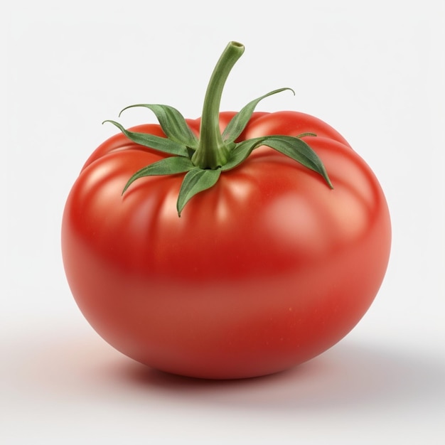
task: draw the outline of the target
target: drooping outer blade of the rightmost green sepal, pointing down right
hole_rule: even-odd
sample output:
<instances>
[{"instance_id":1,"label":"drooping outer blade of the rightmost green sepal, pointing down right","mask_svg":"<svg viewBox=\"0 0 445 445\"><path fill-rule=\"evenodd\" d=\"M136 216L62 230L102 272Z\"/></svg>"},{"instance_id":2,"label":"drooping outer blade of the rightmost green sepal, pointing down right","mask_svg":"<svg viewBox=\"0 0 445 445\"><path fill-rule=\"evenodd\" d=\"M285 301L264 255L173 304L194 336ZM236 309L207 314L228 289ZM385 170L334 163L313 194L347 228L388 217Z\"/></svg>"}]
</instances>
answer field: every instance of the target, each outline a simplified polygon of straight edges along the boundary
<instances>
[{"instance_id":1,"label":"drooping outer blade of the rightmost green sepal, pointing down right","mask_svg":"<svg viewBox=\"0 0 445 445\"><path fill-rule=\"evenodd\" d=\"M267 145L289 156L289 158L294 159L294 161L301 163L303 166L316 171L316 173L323 176L328 186L333 188L323 162L316 152L302 139L294 136L267 136L262 140L262 145Z\"/></svg>"}]
</instances>

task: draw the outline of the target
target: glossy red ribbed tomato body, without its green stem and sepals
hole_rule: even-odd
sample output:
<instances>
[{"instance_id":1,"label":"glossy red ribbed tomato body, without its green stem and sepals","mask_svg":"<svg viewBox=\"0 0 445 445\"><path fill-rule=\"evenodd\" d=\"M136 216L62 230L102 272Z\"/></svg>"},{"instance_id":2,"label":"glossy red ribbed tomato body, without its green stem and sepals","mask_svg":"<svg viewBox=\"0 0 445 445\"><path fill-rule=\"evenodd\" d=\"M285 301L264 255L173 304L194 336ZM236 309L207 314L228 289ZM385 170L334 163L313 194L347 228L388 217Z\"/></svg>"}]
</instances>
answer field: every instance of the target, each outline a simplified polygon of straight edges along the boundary
<instances>
[{"instance_id":1,"label":"glossy red ribbed tomato body, without its green stem and sepals","mask_svg":"<svg viewBox=\"0 0 445 445\"><path fill-rule=\"evenodd\" d=\"M220 114L223 129L234 113ZM188 120L198 134L199 119ZM134 131L162 135L159 125ZM369 166L343 136L297 112L253 114L240 139L304 139L321 176L267 147L195 195L183 175L132 174L163 157L118 134L85 163L62 225L65 272L97 333L153 368L191 377L267 375L341 340L385 275L391 226Z\"/></svg>"}]
</instances>

